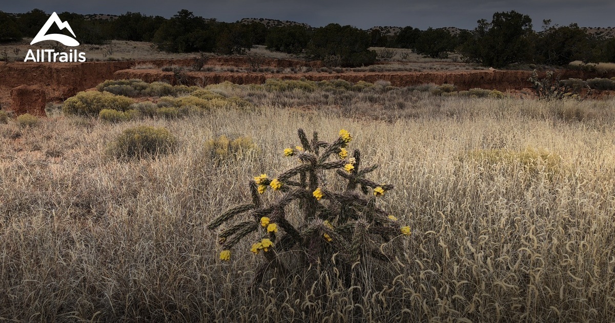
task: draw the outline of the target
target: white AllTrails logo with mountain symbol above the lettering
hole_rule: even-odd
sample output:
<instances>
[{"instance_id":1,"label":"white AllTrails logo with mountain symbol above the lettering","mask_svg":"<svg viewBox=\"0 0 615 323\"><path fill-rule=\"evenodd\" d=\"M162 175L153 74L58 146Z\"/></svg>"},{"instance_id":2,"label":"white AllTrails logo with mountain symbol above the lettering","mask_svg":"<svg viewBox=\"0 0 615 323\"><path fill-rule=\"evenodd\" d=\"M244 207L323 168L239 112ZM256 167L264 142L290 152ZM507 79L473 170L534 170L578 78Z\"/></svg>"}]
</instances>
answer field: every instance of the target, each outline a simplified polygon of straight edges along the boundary
<instances>
[{"instance_id":1,"label":"white AllTrails logo with mountain symbol above the lettering","mask_svg":"<svg viewBox=\"0 0 615 323\"><path fill-rule=\"evenodd\" d=\"M71 28L70 25L68 25L68 22L62 22L62 20L60 20L60 17L58 17L58 15L54 12L53 14L51 14L51 17L49 17L45 25L42 26L38 34L36 34L36 37L32 39L32 42L30 42L30 45L36 44L39 41L57 41L57 42L62 42L62 44L64 44L65 46L71 46L71 47L79 46L79 42L76 39L71 38L69 36L66 36L63 34L47 34L47 31L49 31L49 28L54 23L55 25L58 26L58 28L60 28L60 30L63 30L64 28L66 28L68 31L70 31L71 34L73 34L73 37L76 37L75 33L73 32L73 29ZM45 60L46 57L47 57L47 60ZM80 53L76 49L71 49L69 50L68 53L55 52L54 49L37 49L36 56L34 56L33 50L28 49L28 54L26 55L26 58L25 60L23 60L23 62L28 62L29 60L32 60L32 62L80 62L82 63L82 62L85 62L85 53Z\"/></svg>"}]
</instances>

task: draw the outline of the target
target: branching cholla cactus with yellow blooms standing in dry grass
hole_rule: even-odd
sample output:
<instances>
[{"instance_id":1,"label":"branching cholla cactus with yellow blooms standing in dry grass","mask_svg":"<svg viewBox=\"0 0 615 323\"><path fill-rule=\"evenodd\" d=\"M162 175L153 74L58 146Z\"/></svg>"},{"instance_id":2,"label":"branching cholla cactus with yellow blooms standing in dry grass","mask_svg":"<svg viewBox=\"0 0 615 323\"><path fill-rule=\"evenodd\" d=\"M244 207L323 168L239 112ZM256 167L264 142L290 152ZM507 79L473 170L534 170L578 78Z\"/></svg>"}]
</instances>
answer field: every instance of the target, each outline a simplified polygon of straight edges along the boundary
<instances>
[{"instance_id":1,"label":"branching cholla cactus with yellow blooms standing in dry grass","mask_svg":"<svg viewBox=\"0 0 615 323\"><path fill-rule=\"evenodd\" d=\"M279 254L293 248L302 249L308 263L326 261L325 256L333 253L347 261L393 258L381 251L381 245L393 237L410 235L410 227L400 225L394 215L376 205L380 196L393 189L393 185L367 178L378 165L362 168L358 150L349 157L346 147L352 136L346 130L340 130L333 143L320 141L316 132L311 142L303 130L299 129L298 135L301 146L285 149L284 156L297 158L300 164L276 178L266 174L254 177L248 185L252 202L231 207L208 225L208 229L215 229L248 213L246 220L218 234L223 247L220 258L229 260L231 249L244 238L252 239L250 251L268 260L257 277L266 268L286 271ZM335 170L338 178L346 181L343 191L330 188L328 170ZM261 199L266 191L279 196L270 205ZM293 202L303 214L287 213Z\"/></svg>"}]
</instances>

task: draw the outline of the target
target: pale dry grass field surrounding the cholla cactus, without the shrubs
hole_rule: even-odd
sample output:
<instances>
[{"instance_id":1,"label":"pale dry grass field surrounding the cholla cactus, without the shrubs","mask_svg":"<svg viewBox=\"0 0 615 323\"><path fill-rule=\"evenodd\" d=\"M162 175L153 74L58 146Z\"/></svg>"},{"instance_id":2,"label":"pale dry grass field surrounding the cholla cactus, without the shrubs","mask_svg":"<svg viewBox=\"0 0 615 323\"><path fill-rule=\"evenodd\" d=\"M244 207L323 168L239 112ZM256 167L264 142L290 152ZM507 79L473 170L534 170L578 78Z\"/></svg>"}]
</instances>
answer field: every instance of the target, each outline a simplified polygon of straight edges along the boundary
<instances>
[{"instance_id":1,"label":"pale dry grass field surrounding the cholla cactus, without the shrubs","mask_svg":"<svg viewBox=\"0 0 615 323\"><path fill-rule=\"evenodd\" d=\"M360 113L346 118L344 111L280 108L272 94L237 91L257 103L256 112L0 124L0 317L615 320L615 101L575 103L581 111L601 111L595 122L579 122L558 119L556 103L421 94L408 103L418 111L412 119L375 121ZM322 94L285 95L310 102ZM138 124L167 127L177 151L132 162L106 158L107 143ZM413 229L405 257L356 266L350 288L332 268L253 285L260 255L244 242L230 262L221 262L215 232L205 228L249 198L247 180L293 163L282 150L298 127L325 140L349 130L363 162L382 165L373 177L395 185L382 206ZM250 137L259 149L212 161L205 143L220 135ZM539 164L528 172L514 159L493 159L489 167L459 159L528 146L560 155L558 172Z\"/></svg>"}]
</instances>

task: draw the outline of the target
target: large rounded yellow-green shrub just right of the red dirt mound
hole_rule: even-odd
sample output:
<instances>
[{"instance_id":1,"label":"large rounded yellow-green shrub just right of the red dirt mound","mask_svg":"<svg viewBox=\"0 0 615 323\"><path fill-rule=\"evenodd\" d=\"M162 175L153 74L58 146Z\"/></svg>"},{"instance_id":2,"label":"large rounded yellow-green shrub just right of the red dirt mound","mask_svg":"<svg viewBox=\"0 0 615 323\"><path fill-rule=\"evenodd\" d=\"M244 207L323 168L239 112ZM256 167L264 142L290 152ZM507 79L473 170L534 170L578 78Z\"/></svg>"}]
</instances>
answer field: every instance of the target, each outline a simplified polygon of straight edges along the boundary
<instances>
[{"instance_id":1,"label":"large rounded yellow-green shrub just right of the red dirt mound","mask_svg":"<svg viewBox=\"0 0 615 323\"><path fill-rule=\"evenodd\" d=\"M109 92L79 92L74 97L66 99L62 111L65 114L96 116L103 109L128 110L132 103L131 98L113 95Z\"/></svg>"}]
</instances>

